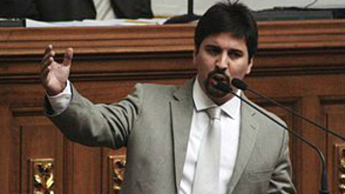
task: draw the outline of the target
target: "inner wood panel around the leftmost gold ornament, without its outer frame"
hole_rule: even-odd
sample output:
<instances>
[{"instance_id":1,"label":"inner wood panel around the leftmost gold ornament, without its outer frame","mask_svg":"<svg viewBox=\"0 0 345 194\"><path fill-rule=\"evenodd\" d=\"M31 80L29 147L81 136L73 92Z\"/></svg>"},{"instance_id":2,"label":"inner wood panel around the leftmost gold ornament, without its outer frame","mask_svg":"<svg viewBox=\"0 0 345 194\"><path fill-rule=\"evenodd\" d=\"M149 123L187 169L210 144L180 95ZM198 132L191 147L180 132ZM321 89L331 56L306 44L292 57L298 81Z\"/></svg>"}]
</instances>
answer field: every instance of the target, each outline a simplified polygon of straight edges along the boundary
<instances>
[{"instance_id":1,"label":"inner wood panel around the leftmost gold ornament, without its outer frame","mask_svg":"<svg viewBox=\"0 0 345 194\"><path fill-rule=\"evenodd\" d=\"M34 121L33 121L34 123ZM30 160L33 159L54 159L54 191L62 193L63 182L63 141L62 134L51 125L30 125L20 127L20 149L21 149L21 192L32 193L30 188L33 182L32 166ZM29 177L31 176L31 177Z\"/></svg>"}]
</instances>

